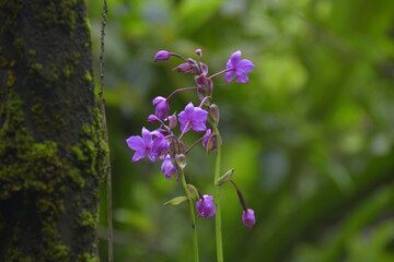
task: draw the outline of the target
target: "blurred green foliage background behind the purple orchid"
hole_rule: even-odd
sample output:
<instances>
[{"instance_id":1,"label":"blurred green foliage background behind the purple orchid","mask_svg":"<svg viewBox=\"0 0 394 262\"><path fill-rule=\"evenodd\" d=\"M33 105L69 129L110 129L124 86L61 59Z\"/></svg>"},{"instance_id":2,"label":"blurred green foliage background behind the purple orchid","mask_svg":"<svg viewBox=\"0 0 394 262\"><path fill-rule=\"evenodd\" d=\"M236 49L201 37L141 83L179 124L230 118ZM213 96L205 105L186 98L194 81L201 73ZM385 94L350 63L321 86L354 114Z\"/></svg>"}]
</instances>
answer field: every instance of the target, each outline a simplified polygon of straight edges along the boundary
<instances>
[{"instance_id":1,"label":"blurred green foliage background behind the purple orchid","mask_svg":"<svg viewBox=\"0 0 394 262\"><path fill-rule=\"evenodd\" d=\"M93 55L101 1L86 0ZM131 163L125 140L140 135L151 100L193 86L153 63L165 49L196 58L210 72L242 50L255 63L248 84L215 79L221 109L223 172L234 179L257 224L224 184L227 262L394 261L394 1L392 0L109 0L105 81L113 168L116 262L192 261L186 204L160 163ZM95 70L97 75L97 61ZM194 92L177 95L181 111ZM189 181L212 193L213 155L188 157ZM106 195L100 254L106 261ZM216 261L215 219L198 217L201 261Z\"/></svg>"}]
</instances>

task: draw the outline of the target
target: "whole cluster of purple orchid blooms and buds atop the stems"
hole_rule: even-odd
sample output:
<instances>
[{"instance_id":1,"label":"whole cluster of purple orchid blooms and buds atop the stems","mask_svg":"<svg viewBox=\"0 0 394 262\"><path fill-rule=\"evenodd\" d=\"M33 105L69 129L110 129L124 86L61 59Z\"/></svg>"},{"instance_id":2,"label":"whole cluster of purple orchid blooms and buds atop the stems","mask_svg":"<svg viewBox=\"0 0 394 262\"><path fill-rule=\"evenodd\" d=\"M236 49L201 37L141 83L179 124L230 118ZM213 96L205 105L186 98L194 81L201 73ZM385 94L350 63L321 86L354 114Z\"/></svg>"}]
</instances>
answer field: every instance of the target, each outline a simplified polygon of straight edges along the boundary
<instances>
[{"instance_id":1,"label":"whole cluster of purple orchid blooms and buds atop the stems","mask_svg":"<svg viewBox=\"0 0 394 262\"><path fill-rule=\"evenodd\" d=\"M241 59L241 51L237 50L231 55L225 64L225 70L208 76L208 66L201 62L201 49L197 49L196 55L199 57L199 61L192 58L185 59L178 53L165 50L157 52L154 61L169 60L171 57L182 59L183 63L174 70L181 73L194 74L196 86L175 90L167 97L155 97L152 100L155 107L154 114L148 117L148 122L158 124L159 128L149 131L143 127L141 136L132 135L128 138L126 142L128 146L135 151L131 158L132 162L144 157L148 157L151 162L161 160L161 171L165 175L165 178L171 179L176 175L176 181L182 180L187 196L175 198L173 201L169 201L169 203L178 204L182 201L189 201L192 203L192 201L195 200L197 213L204 217L212 217L217 212L218 200L213 201L212 195L202 194L196 187L186 184L186 176L184 175L186 155L195 146L201 144L208 153L217 151L217 157L219 157L222 139L218 130L220 118L219 108L213 104L212 98L212 79L224 74L227 83L233 79L235 79L237 83L247 83L247 73L252 71L254 64L247 59ZM195 106L190 102L179 114L170 115L170 100L174 95L192 90L196 91L199 105ZM208 122L210 128L207 128ZM177 126L179 126L179 131L177 131ZM187 148L183 142L183 138L189 131L204 132L204 134ZM177 135L177 133L179 133L179 135ZM218 164L220 165L220 157ZM219 169L220 167L216 172L219 174ZM243 207L242 222L245 226L252 228L256 222L254 211L247 209L241 190L232 179L232 174L233 169L221 177L216 175L215 183L219 188L224 182L231 181Z\"/></svg>"}]
</instances>

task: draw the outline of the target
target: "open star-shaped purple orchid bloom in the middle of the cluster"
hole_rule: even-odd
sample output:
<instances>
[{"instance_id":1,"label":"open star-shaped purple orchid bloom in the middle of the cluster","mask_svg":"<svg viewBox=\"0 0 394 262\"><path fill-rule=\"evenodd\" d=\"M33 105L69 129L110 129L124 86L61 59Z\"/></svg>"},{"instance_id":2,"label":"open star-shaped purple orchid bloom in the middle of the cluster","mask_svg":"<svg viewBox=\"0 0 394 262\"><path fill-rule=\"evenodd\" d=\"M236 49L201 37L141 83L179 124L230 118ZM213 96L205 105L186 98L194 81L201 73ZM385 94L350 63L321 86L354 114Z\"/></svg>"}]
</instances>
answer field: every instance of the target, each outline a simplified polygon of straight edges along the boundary
<instances>
[{"instance_id":1,"label":"open star-shaped purple orchid bloom in the middle of the cluster","mask_svg":"<svg viewBox=\"0 0 394 262\"><path fill-rule=\"evenodd\" d=\"M206 121L207 121L208 111L195 107L193 103L187 104L185 110L179 112L178 121L181 122L181 131L183 133L190 130L194 131L205 131L207 130Z\"/></svg>"}]
</instances>

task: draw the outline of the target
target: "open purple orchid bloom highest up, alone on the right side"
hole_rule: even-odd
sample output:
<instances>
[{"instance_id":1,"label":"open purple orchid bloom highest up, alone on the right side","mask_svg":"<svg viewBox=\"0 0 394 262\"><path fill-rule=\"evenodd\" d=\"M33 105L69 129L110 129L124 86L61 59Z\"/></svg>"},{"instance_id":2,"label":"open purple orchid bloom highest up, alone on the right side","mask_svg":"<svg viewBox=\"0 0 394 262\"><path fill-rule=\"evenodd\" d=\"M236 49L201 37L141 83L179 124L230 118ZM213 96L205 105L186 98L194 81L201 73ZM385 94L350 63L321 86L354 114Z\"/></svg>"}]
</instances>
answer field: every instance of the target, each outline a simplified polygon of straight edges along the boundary
<instances>
[{"instance_id":1,"label":"open purple orchid bloom highest up, alone on the right side","mask_svg":"<svg viewBox=\"0 0 394 262\"><path fill-rule=\"evenodd\" d=\"M225 69L231 70L225 73L225 82L229 83L233 78L235 78L237 83L247 83L248 78L246 73L251 72L253 68L254 64L251 60L241 60L240 50L233 52L225 64Z\"/></svg>"}]
</instances>

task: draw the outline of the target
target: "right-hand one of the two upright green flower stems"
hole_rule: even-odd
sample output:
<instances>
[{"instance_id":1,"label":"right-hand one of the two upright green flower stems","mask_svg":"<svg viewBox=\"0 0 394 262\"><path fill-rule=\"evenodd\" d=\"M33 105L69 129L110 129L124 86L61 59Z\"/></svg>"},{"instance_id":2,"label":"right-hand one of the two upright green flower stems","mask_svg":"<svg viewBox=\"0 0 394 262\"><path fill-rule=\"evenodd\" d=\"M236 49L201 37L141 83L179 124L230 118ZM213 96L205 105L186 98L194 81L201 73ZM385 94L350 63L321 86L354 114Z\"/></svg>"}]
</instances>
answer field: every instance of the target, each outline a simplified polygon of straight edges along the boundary
<instances>
[{"instance_id":1,"label":"right-hand one of the two upright green flower stems","mask_svg":"<svg viewBox=\"0 0 394 262\"><path fill-rule=\"evenodd\" d=\"M221 231L221 209L220 209L220 186L217 186L217 181L220 178L220 163L221 163L221 138L218 130L217 123L210 121L210 124L213 129L216 139L217 139L217 158L215 164L215 187L216 187L216 239L217 239L217 258L218 262L223 262L223 243L222 243L222 231Z\"/></svg>"}]
</instances>

